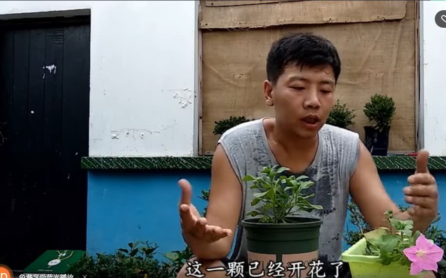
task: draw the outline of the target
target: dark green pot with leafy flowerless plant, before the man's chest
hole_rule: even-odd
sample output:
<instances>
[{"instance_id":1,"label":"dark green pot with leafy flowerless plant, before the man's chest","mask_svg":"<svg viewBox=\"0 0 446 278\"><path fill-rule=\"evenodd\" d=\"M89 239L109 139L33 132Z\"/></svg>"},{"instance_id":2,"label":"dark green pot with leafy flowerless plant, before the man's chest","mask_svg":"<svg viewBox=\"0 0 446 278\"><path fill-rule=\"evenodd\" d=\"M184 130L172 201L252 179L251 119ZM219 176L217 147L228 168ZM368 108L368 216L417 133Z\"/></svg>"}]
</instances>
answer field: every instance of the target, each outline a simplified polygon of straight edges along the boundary
<instances>
[{"instance_id":1,"label":"dark green pot with leafy flowerless plant, before the man's chest","mask_svg":"<svg viewBox=\"0 0 446 278\"><path fill-rule=\"evenodd\" d=\"M310 271L308 264L318 259L319 229L322 220L300 217L299 212L311 212L322 206L311 204L304 195L314 183L307 176L284 175L286 167L263 167L257 177L247 175L255 189L251 205L255 208L242 221L246 232L248 261L260 264L252 274L267 273L271 263L281 262L287 269L291 263L304 262L300 276ZM290 264L289 264L290 263Z\"/></svg>"}]
</instances>

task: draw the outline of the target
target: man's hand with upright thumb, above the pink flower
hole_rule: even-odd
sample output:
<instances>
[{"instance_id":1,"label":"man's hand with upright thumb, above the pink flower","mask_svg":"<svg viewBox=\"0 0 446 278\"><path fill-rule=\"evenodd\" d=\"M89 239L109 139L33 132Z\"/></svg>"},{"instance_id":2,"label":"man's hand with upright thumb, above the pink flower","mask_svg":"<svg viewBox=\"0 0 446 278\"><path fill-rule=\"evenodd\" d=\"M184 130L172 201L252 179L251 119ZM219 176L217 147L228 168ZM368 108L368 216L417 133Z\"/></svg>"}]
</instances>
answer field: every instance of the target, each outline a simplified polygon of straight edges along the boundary
<instances>
[{"instance_id":1,"label":"man's hand with upright thumb, above the pink flower","mask_svg":"<svg viewBox=\"0 0 446 278\"><path fill-rule=\"evenodd\" d=\"M416 172L410 175L408 183L403 192L406 195L405 201L413 204L408 213L411 216L414 228L424 232L438 213L438 188L435 178L427 169L429 153L426 150L420 151L416 160Z\"/></svg>"}]
</instances>

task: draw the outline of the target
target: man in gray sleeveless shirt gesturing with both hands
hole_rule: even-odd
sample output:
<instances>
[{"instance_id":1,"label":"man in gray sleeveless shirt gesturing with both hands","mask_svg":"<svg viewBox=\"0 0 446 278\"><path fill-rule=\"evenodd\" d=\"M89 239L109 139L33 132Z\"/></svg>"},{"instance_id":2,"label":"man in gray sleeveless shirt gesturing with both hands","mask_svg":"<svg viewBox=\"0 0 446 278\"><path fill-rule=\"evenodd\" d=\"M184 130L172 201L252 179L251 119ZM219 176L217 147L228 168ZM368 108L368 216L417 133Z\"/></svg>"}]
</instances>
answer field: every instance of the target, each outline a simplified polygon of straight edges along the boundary
<instances>
[{"instance_id":1,"label":"man in gray sleeveless shirt gesturing with both hands","mask_svg":"<svg viewBox=\"0 0 446 278\"><path fill-rule=\"evenodd\" d=\"M409 177L412 186L405 188L406 202L413 208L401 212L386 193L358 134L325 125L341 71L330 41L311 34L283 37L273 44L266 70L264 95L275 118L244 123L222 135L212 162L206 218L191 204L191 185L179 181L183 237L205 277L226 277L224 271L206 272L206 268L227 267L228 260L247 261L240 223L252 208L254 189L241 180L264 166L279 164L290 168L289 175L305 174L316 183L310 202L323 206L312 214L323 220L319 240L323 261L337 261L341 255L349 194L372 227L387 225L386 210L413 219L414 229L424 231L429 226L437 215L438 191L427 171L426 151L420 152L416 174ZM227 258L233 242L233 256ZM178 277L186 277L187 268L185 264Z\"/></svg>"}]
</instances>

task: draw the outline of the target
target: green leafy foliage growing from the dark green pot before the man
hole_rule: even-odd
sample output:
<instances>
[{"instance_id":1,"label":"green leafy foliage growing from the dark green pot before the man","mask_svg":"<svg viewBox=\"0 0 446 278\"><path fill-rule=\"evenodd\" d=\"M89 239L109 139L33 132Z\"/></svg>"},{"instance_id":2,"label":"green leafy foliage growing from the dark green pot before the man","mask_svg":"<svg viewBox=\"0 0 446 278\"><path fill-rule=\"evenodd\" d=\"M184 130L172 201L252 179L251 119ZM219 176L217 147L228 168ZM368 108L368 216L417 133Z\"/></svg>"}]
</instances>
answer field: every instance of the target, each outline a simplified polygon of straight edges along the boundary
<instances>
[{"instance_id":1,"label":"green leafy foliage growing from the dark green pot before the man","mask_svg":"<svg viewBox=\"0 0 446 278\"><path fill-rule=\"evenodd\" d=\"M257 177L247 175L243 178L244 182L252 181L259 192L254 193L254 199L251 205L264 203L258 209L248 213L250 216L261 216L260 222L264 223L286 223L292 222L288 219L290 215L297 215L299 210L313 211L322 209L320 205L313 205L307 200L315 194L303 195L302 191L314 185L307 176L286 177L281 175L290 170L286 167L263 167Z\"/></svg>"}]
</instances>

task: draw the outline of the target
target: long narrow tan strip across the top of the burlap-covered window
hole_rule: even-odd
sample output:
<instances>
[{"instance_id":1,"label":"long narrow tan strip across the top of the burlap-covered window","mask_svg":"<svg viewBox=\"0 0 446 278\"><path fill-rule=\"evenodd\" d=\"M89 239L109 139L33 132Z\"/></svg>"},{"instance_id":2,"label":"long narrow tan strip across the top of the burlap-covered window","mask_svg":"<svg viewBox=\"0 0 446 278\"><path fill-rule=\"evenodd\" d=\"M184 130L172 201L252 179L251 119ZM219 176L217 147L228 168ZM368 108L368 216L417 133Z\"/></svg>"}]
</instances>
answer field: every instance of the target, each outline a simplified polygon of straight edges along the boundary
<instances>
[{"instance_id":1,"label":"long narrow tan strip across the top of the burlap-covered window","mask_svg":"<svg viewBox=\"0 0 446 278\"><path fill-rule=\"evenodd\" d=\"M306 0L237 6L207 6L208 2L201 5L199 26L203 29L372 22L406 16L406 1L394 0Z\"/></svg>"}]
</instances>

